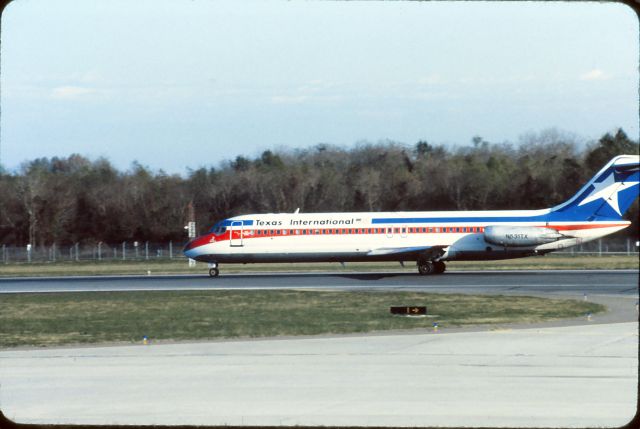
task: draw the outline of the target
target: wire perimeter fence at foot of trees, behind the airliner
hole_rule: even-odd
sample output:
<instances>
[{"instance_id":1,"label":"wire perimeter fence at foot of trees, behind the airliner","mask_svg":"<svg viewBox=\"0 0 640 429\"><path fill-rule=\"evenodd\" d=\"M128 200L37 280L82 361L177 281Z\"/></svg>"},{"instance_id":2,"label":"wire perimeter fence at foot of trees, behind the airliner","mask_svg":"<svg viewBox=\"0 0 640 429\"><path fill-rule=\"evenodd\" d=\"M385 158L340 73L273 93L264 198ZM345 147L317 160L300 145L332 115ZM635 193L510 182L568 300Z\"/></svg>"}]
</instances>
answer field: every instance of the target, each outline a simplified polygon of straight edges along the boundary
<instances>
[{"instance_id":1,"label":"wire perimeter fence at foot of trees, behind the airliner","mask_svg":"<svg viewBox=\"0 0 640 429\"><path fill-rule=\"evenodd\" d=\"M96 243L49 246L0 246L0 264L51 263L51 262L126 262L149 260L185 260L184 243L150 243L148 241L123 241L121 243ZM600 239L556 253L571 255L638 255L639 243L631 238Z\"/></svg>"}]
</instances>

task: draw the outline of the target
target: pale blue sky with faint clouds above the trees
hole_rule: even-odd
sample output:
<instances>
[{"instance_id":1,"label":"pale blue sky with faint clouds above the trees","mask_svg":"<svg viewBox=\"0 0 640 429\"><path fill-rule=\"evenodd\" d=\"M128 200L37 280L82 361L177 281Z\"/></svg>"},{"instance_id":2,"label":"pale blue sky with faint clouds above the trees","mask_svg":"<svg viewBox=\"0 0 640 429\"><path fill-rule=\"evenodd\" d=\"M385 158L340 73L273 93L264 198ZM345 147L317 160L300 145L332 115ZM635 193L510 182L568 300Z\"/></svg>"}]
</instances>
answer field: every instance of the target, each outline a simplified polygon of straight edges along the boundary
<instances>
[{"instance_id":1,"label":"pale blue sky with faint clouds above the trees","mask_svg":"<svg viewBox=\"0 0 640 429\"><path fill-rule=\"evenodd\" d=\"M2 15L0 162L105 156L185 173L238 154L638 138L621 4L16 0Z\"/></svg>"}]
</instances>

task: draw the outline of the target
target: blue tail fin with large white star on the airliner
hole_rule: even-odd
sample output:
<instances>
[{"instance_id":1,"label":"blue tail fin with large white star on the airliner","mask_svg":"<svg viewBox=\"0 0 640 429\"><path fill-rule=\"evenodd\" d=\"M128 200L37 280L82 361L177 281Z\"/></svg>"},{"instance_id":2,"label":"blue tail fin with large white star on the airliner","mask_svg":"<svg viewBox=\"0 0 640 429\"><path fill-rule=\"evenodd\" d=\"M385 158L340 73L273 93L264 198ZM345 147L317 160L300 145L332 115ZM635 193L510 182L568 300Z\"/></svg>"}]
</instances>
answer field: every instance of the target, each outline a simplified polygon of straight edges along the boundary
<instances>
[{"instance_id":1,"label":"blue tail fin with large white star on the airliner","mask_svg":"<svg viewBox=\"0 0 640 429\"><path fill-rule=\"evenodd\" d=\"M550 220L621 219L638 198L639 170L638 155L616 156L573 197L553 207Z\"/></svg>"}]
</instances>

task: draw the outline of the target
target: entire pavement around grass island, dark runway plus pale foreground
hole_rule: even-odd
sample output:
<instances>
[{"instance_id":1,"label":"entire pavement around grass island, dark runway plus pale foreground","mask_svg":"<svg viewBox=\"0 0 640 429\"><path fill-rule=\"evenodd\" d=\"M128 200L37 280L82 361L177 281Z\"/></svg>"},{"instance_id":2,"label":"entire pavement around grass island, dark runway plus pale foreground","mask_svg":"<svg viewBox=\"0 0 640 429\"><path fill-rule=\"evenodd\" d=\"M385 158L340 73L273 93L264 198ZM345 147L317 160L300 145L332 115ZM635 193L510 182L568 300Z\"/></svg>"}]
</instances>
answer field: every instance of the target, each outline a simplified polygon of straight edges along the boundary
<instances>
[{"instance_id":1,"label":"entire pavement around grass island, dark runway plus pale foreground","mask_svg":"<svg viewBox=\"0 0 640 429\"><path fill-rule=\"evenodd\" d=\"M0 280L0 293L283 288L526 294L609 311L562 327L0 350L2 411L22 423L391 427L611 427L636 412L637 270Z\"/></svg>"}]
</instances>

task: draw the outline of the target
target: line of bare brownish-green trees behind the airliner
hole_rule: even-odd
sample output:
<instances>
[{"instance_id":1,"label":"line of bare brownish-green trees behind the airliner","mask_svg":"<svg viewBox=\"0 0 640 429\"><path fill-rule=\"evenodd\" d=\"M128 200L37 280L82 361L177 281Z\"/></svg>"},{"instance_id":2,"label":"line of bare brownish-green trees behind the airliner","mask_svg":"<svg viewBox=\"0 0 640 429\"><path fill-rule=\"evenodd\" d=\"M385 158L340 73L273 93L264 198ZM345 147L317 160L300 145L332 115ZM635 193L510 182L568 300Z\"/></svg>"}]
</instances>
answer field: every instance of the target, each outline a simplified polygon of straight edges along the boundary
<instances>
[{"instance_id":1,"label":"line of bare brownish-green trees behind the airliner","mask_svg":"<svg viewBox=\"0 0 640 429\"><path fill-rule=\"evenodd\" d=\"M536 209L571 197L607 161L637 154L623 130L588 145L554 130L518 145L474 137L460 147L419 141L319 144L237 156L184 176L137 162L39 158L0 169L0 244L186 241L188 206L198 232L239 214L341 211ZM624 232L638 237L638 201Z\"/></svg>"}]
</instances>

